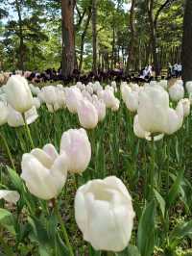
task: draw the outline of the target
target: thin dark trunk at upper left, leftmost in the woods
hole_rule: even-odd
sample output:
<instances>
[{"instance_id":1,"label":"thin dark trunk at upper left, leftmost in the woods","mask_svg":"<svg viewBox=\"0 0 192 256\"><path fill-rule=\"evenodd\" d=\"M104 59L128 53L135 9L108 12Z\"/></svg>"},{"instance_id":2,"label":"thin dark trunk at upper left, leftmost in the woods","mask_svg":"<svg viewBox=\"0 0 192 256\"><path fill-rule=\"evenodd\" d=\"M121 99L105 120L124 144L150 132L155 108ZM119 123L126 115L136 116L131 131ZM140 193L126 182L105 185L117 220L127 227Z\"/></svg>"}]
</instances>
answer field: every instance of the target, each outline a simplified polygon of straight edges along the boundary
<instances>
[{"instance_id":1,"label":"thin dark trunk at upper left, leftmost in the woods","mask_svg":"<svg viewBox=\"0 0 192 256\"><path fill-rule=\"evenodd\" d=\"M20 4L18 0L15 1L16 12L18 14L18 25L19 25L19 56L18 56L18 68L24 70L24 37L23 37L23 26Z\"/></svg>"}]
</instances>

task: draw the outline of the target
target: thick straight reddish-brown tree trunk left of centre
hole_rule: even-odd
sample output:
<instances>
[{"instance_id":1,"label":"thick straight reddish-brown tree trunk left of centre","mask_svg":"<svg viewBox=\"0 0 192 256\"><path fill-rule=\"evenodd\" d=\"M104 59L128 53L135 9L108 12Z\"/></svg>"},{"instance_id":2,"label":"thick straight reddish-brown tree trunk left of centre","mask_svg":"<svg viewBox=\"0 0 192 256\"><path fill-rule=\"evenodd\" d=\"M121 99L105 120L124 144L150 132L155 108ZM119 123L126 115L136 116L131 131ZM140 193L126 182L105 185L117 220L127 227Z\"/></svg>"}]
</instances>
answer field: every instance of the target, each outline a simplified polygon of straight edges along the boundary
<instances>
[{"instance_id":1,"label":"thick straight reddish-brown tree trunk left of centre","mask_svg":"<svg viewBox=\"0 0 192 256\"><path fill-rule=\"evenodd\" d=\"M75 67L74 0L61 0L62 75L69 77Z\"/></svg>"}]
</instances>

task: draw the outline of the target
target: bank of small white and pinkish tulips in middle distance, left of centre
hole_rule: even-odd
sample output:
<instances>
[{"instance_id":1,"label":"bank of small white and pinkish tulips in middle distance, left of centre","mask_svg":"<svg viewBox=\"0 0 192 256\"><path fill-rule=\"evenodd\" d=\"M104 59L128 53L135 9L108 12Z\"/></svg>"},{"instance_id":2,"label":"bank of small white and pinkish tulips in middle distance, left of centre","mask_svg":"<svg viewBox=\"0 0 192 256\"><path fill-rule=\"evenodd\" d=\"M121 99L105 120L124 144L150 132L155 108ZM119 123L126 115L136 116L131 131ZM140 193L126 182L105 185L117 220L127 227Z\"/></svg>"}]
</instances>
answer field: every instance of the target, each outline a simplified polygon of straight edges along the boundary
<instances>
[{"instance_id":1,"label":"bank of small white and pinkish tulips in middle distance, left of centre","mask_svg":"<svg viewBox=\"0 0 192 256\"><path fill-rule=\"evenodd\" d=\"M39 90L30 85L34 97L34 104L38 109L45 103L49 112L54 113L67 108L72 114L77 114L80 124L85 129L93 129L98 122L103 121L106 109L118 111L120 101L115 97L116 83L113 82L105 90L99 82L88 83L86 86L78 82L75 86L62 85L47 86Z\"/></svg>"}]
</instances>

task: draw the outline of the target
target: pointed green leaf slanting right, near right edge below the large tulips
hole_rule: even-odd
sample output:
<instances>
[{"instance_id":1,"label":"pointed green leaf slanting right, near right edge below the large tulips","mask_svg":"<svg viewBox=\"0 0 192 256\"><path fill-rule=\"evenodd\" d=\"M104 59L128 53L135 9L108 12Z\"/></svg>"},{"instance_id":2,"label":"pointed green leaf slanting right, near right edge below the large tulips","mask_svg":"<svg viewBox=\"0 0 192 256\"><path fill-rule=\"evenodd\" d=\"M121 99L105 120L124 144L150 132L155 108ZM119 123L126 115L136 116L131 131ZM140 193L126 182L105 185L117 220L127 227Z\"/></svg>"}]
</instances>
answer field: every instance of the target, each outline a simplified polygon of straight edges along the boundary
<instances>
[{"instance_id":1,"label":"pointed green leaf slanting right, near right edge below the large tulips","mask_svg":"<svg viewBox=\"0 0 192 256\"><path fill-rule=\"evenodd\" d=\"M169 209L174 201L176 200L176 197L178 196L178 193L180 192L180 183L182 181L182 176L184 173L184 169L182 169L175 180L174 184L172 185L170 191L168 192L167 198L166 198L166 206Z\"/></svg>"}]
</instances>

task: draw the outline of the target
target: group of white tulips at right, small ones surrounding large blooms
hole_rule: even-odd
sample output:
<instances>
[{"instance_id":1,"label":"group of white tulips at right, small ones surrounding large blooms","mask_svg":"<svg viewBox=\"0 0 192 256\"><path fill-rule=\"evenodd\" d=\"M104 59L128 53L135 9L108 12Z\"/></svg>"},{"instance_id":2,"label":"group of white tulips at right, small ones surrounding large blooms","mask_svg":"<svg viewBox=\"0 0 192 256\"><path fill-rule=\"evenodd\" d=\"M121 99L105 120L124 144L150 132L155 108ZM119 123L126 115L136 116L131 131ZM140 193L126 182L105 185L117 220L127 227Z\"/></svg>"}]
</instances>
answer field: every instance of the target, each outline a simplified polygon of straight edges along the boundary
<instances>
[{"instance_id":1,"label":"group of white tulips at right, small ones surrounding large blooms","mask_svg":"<svg viewBox=\"0 0 192 256\"><path fill-rule=\"evenodd\" d=\"M188 82L188 91L190 85ZM171 135L180 129L183 118L190 113L190 100L183 98L181 80L177 80L169 89L165 80L153 81L143 87L122 83L121 94L127 108L136 113L133 131L138 138L149 141L154 138L157 141L164 134ZM178 102L176 109L170 107L170 99Z\"/></svg>"}]
</instances>

